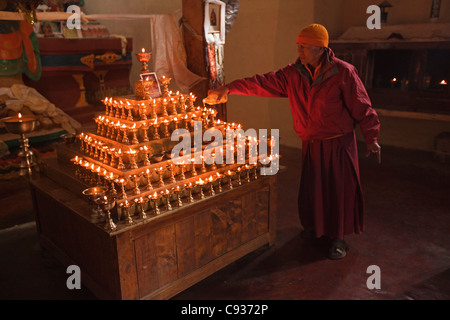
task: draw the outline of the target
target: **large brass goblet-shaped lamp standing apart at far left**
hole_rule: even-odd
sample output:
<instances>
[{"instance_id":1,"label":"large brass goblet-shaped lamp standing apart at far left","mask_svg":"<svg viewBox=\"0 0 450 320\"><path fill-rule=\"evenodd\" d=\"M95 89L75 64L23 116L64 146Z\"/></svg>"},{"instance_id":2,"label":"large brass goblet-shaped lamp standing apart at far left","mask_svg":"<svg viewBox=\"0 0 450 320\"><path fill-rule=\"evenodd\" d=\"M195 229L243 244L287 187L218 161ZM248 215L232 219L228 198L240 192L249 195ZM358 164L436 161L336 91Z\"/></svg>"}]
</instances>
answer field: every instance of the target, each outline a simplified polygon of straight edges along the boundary
<instances>
[{"instance_id":1,"label":"large brass goblet-shaped lamp standing apart at far left","mask_svg":"<svg viewBox=\"0 0 450 320\"><path fill-rule=\"evenodd\" d=\"M37 118L34 116L22 116L18 114L17 117L8 117L2 119L6 130L13 134L20 135L20 148L18 156L21 158L19 175L31 175L36 163L33 160L33 151L29 150L30 145L25 134L34 131L36 128Z\"/></svg>"}]
</instances>

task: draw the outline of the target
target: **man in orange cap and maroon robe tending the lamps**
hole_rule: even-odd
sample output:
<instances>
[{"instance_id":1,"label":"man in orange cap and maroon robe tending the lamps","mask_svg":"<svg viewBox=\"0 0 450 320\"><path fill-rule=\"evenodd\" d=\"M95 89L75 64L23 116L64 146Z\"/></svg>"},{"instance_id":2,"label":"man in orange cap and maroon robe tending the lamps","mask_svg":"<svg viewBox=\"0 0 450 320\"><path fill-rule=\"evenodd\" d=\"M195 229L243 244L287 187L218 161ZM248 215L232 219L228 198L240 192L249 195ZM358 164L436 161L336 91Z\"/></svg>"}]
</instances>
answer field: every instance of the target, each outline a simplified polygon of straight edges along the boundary
<instances>
[{"instance_id":1,"label":"man in orange cap and maroon robe tending the lamps","mask_svg":"<svg viewBox=\"0 0 450 320\"><path fill-rule=\"evenodd\" d=\"M380 121L354 66L335 57L322 25L304 28L298 60L262 75L210 90L206 101L222 103L228 94L287 97L294 129L303 141L298 208L303 237L332 239L330 259L345 257L344 236L364 231L364 201L355 125L375 154Z\"/></svg>"}]
</instances>

